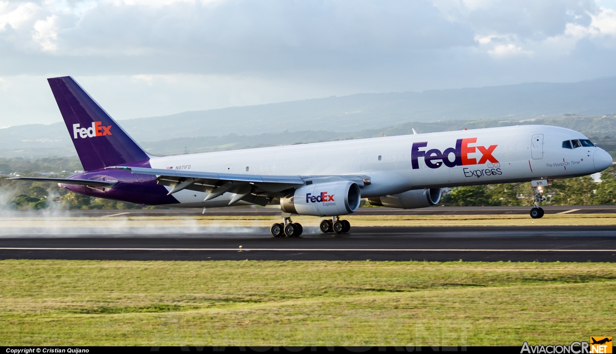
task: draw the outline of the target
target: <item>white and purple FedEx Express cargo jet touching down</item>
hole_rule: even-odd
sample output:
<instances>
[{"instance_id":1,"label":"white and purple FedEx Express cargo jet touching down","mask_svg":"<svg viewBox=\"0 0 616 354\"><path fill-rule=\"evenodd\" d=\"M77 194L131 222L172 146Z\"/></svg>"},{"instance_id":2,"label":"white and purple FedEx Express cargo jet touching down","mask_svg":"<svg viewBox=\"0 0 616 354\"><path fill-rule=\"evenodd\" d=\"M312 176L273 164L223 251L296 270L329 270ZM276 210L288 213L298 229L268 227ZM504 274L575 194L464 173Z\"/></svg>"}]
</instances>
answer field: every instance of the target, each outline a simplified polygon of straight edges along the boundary
<instances>
[{"instance_id":1,"label":"white and purple FedEx Express cargo jet touching down","mask_svg":"<svg viewBox=\"0 0 616 354\"><path fill-rule=\"evenodd\" d=\"M178 156L145 152L70 76L48 79L86 172L57 182L75 193L164 207L280 204L272 235L294 237L292 215L328 217L320 230L345 233L342 215L361 198L402 209L439 203L441 188L531 182L530 216L543 216L553 179L603 171L612 157L584 135L553 126L514 126L310 143ZM180 123L181 124L181 123Z\"/></svg>"}]
</instances>

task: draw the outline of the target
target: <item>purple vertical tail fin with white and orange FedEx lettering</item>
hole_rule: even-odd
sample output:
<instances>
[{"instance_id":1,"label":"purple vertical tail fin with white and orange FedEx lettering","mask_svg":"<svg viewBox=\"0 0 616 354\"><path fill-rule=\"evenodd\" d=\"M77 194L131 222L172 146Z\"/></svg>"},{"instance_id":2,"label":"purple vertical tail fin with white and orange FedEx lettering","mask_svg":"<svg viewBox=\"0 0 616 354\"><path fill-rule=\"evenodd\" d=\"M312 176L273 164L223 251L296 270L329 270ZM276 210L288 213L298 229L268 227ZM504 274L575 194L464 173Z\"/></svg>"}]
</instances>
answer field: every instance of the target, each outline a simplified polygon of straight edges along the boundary
<instances>
[{"instance_id":1,"label":"purple vertical tail fin with white and orange FedEx lettering","mask_svg":"<svg viewBox=\"0 0 616 354\"><path fill-rule=\"evenodd\" d=\"M86 171L148 159L75 79L65 76L47 81Z\"/></svg>"}]
</instances>

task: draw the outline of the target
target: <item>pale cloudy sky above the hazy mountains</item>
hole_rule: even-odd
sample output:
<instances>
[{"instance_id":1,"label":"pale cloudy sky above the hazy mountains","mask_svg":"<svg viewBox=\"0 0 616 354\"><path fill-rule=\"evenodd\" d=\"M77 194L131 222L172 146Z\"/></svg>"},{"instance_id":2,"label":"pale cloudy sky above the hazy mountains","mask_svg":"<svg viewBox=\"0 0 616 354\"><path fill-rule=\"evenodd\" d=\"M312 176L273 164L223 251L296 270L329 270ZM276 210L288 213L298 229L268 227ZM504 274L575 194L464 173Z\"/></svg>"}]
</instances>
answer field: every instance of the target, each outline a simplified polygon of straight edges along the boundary
<instances>
[{"instance_id":1,"label":"pale cloudy sky above the hazy mountains","mask_svg":"<svg viewBox=\"0 0 616 354\"><path fill-rule=\"evenodd\" d=\"M0 127L616 75L616 0L0 1Z\"/></svg>"}]
</instances>

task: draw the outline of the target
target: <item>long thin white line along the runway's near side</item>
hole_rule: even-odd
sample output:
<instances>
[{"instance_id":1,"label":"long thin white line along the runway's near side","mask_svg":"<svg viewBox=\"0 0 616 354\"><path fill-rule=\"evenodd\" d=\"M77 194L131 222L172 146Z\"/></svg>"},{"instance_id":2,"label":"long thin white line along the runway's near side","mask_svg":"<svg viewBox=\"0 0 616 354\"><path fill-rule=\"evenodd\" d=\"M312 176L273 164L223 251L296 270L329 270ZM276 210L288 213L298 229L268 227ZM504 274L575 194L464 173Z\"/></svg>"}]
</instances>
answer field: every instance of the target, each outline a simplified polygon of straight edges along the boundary
<instances>
[{"instance_id":1,"label":"long thin white line along the runway's near side","mask_svg":"<svg viewBox=\"0 0 616 354\"><path fill-rule=\"evenodd\" d=\"M0 247L0 251L239 251L239 248L89 248ZM248 251L342 251L342 252L616 252L616 249L365 249L365 248L243 248Z\"/></svg>"}]
</instances>

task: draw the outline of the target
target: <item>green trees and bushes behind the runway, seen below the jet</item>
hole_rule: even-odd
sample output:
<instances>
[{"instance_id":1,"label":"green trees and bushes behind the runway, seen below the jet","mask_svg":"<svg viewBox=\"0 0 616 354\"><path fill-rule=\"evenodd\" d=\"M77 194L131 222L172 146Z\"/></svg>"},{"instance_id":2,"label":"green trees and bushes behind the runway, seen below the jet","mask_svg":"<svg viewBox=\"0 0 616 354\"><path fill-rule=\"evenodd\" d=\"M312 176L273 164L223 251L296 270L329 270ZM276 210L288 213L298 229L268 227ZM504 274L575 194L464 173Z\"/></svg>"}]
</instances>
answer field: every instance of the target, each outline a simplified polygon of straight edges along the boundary
<instances>
[{"instance_id":1,"label":"green trees and bushes behind the runway, seen below the jet","mask_svg":"<svg viewBox=\"0 0 616 354\"><path fill-rule=\"evenodd\" d=\"M68 177L73 169L81 169L77 158L0 159L0 166L8 167L23 176L39 177L40 171L58 172L59 177ZM69 171L62 170L70 166ZM79 167L78 167L79 166ZM26 169L30 168L30 169ZM65 172L62 172L65 171ZM546 188L548 200L545 205L609 205L616 204L616 169L609 167L601 174L601 183L590 177L554 180ZM530 183L503 183L452 188L439 205L445 206L530 206L533 190ZM367 206L367 203L362 203ZM59 188L56 183L26 182L0 178L0 208L9 209L140 209L131 203L110 201L78 195Z\"/></svg>"}]
</instances>

